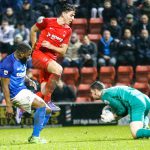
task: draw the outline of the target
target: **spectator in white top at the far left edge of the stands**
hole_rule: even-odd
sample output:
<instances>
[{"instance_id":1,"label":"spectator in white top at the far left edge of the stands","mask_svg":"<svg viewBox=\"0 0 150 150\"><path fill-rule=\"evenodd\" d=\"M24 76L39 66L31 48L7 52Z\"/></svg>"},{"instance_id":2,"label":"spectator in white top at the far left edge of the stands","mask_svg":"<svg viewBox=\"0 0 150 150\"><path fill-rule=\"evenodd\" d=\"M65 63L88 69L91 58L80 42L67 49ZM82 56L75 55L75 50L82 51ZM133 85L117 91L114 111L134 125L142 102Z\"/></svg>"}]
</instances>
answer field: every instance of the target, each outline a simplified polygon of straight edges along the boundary
<instances>
[{"instance_id":1,"label":"spectator in white top at the far left edge of the stands","mask_svg":"<svg viewBox=\"0 0 150 150\"><path fill-rule=\"evenodd\" d=\"M6 55L11 54L11 46L13 45L14 28L8 23L8 20L3 20L0 27L0 52Z\"/></svg>"}]
</instances>

